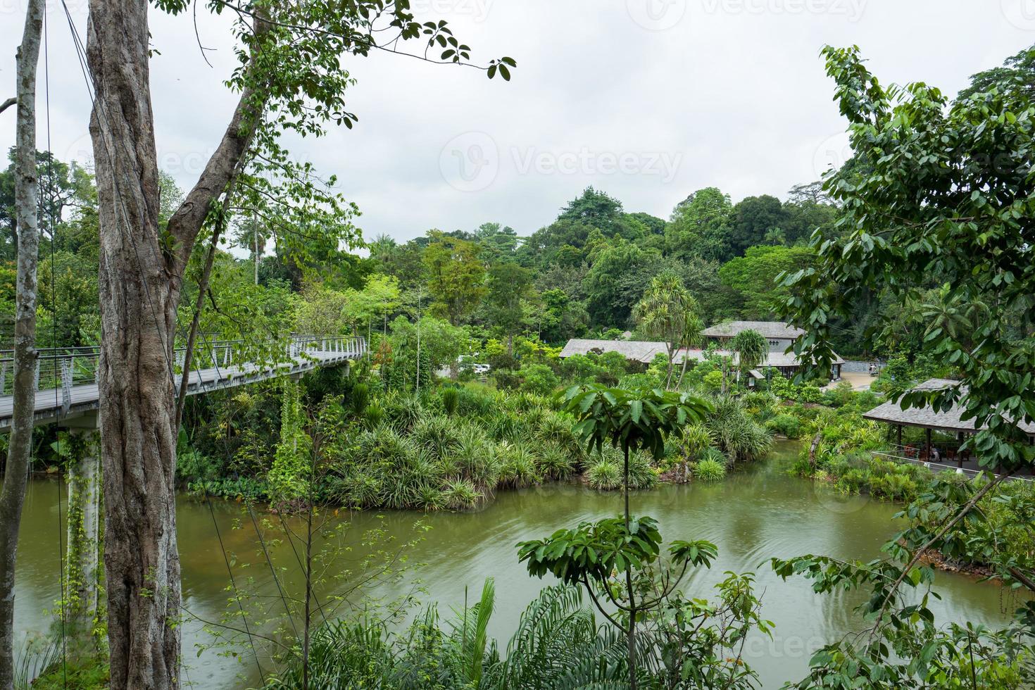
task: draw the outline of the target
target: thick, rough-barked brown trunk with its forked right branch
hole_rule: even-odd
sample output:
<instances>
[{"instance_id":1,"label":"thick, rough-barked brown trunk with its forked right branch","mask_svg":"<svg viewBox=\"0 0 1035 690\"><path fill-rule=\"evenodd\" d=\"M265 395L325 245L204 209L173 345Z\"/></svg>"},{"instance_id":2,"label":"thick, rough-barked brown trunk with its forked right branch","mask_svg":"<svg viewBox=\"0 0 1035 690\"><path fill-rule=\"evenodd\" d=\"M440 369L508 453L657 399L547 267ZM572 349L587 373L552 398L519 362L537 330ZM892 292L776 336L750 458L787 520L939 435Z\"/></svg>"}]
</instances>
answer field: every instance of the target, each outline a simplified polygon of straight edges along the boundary
<instances>
[{"instance_id":1,"label":"thick, rough-barked brown trunk with its forked right branch","mask_svg":"<svg viewBox=\"0 0 1035 690\"><path fill-rule=\"evenodd\" d=\"M90 0L87 36L96 94L90 134L100 221L103 541L114 690L179 685L176 312L198 233L235 175L261 108L245 88L215 153L162 231L147 9L143 0Z\"/></svg>"}]
</instances>

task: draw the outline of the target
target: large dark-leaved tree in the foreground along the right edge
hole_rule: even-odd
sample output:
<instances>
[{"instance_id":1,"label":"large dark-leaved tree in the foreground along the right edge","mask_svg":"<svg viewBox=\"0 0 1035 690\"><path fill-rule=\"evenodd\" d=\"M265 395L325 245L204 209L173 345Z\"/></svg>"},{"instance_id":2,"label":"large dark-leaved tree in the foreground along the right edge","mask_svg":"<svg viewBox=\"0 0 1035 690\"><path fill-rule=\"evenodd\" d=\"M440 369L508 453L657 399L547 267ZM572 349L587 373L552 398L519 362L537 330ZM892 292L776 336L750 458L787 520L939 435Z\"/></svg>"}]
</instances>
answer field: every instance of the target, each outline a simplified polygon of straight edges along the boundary
<instances>
[{"instance_id":1,"label":"large dark-leaved tree in the foreground along the right edge","mask_svg":"<svg viewBox=\"0 0 1035 690\"><path fill-rule=\"evenodd\" d=\"M861 291L887 291L905 300L931 282L943 286L944 306L933 314L937 318L920 347L952 364L960 385L906 392L899 402L935 410L960 406L963 417L980 429L969 445L998 476L976 484L936 482L907 513L929 520L896 535L885 546L890 559L774 562L783 576L814 578L817 592L865 588L873 593L861 606L871 630L858 639L867 643L831 643L814 657L814 669L799 687L847 688L860 682L913 687L940 680L990 687L999 681L987 681L985 673L996 678L1007 669L992 667L989 660L1031 654L1032 606L1017 611L1015 632L981 639L976 662L972 626L936 628L927 596L899 590L929 587L933 573L920 566L928 549L968 554L983 543L978 547L983 562L998 564L1007 583L1035 591L1030 564L1004 556L990 540L960 533L967 526L990 537L979 527L984 522L980 500L1009 474L1035 464L1035 447L1017 427L1022 420L1035 421L1035 179L1029 164L1035 103L1028 89L1000 88L998 80L982 79L955 100L922 83L885 89L857 48L828 47L824 56L852 147L867 166L827 177L825 188L844 209L845 232L818 233L812 240L817 264L783 277L791 293L782 311L809 331L795 349L825 367L833 357L828 344L832 317L850 310ZM1016 82L1011 78L1010 84ZM975 323L969 314L984 314L979 304L993 307ZM900 661L918 658L920 663Z\"/></svg>"}]
</instances>

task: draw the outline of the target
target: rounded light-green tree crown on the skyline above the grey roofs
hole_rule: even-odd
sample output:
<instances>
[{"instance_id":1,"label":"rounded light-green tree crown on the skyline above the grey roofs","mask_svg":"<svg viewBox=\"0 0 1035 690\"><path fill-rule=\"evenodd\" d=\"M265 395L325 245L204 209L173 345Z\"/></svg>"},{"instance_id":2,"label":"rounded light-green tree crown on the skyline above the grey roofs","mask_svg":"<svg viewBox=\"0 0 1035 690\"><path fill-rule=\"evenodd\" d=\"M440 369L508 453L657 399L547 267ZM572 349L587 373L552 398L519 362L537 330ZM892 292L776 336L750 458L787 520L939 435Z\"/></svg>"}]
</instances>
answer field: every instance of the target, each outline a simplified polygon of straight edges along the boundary
<instances>
[{"instance_id":1,"label":"rounded light-green tree crown on the skyline above the grey roofs","mask_svg":"<svg viewBox=\"0 0 1035 690\"><path fill-rule=\"evenodd\" d=\"M732 219L729 194L716 187L694 191L672 212L664 230L667 253L679 259L726 259Z\"/></svg>"}]
</instances>

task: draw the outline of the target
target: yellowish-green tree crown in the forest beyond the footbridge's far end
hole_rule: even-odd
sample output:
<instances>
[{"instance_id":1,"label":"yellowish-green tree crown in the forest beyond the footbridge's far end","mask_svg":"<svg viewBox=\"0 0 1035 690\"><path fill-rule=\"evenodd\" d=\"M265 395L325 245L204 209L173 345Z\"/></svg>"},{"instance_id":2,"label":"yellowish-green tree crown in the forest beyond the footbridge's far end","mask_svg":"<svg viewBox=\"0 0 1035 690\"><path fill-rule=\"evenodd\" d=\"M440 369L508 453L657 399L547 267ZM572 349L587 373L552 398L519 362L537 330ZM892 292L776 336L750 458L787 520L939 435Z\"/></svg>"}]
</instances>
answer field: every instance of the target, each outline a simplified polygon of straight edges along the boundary
<instances>
[{"instance_id":1,"label":"yellowish-green tree crown in the forest beyond the footbridge's far end","mask_svg":"<svg viewBox=\"0 0 1035 690\"><path fill-rule=\"evenodd\" d=\"M427 289L434 300L431 309L456 326L474 311L485 294L485 266L477 244L438 232L431 237L432 243L423 254Z\"/></svg>"}]
</instances>

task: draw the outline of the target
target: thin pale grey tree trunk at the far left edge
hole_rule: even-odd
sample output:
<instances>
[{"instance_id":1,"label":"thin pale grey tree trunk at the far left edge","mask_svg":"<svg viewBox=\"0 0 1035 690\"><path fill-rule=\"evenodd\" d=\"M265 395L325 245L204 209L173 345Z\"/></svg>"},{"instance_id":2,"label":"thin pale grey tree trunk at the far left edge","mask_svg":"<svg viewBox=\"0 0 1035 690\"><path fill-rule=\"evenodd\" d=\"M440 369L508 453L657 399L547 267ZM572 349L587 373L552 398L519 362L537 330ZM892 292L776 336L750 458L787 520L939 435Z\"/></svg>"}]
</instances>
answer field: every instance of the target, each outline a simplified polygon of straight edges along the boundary
<instances>
[{"instance_id":1,"label":"thin pale grey tree trunk at the far left edge","mask_svg":"<svg viewBox=\"0 0 1035 690\"><path fill-rule=\"evenodd\" d=\"M0 689L14 684L14 562L26 481L32 455L36 407L36 260L39 250L36 171L36 63L43 26L43 0L29 0L18 49L18 120L14 145L14 215L18 286L14 306L14 409L7 467L0 489Z\"/></svg>"}]
</instances>

